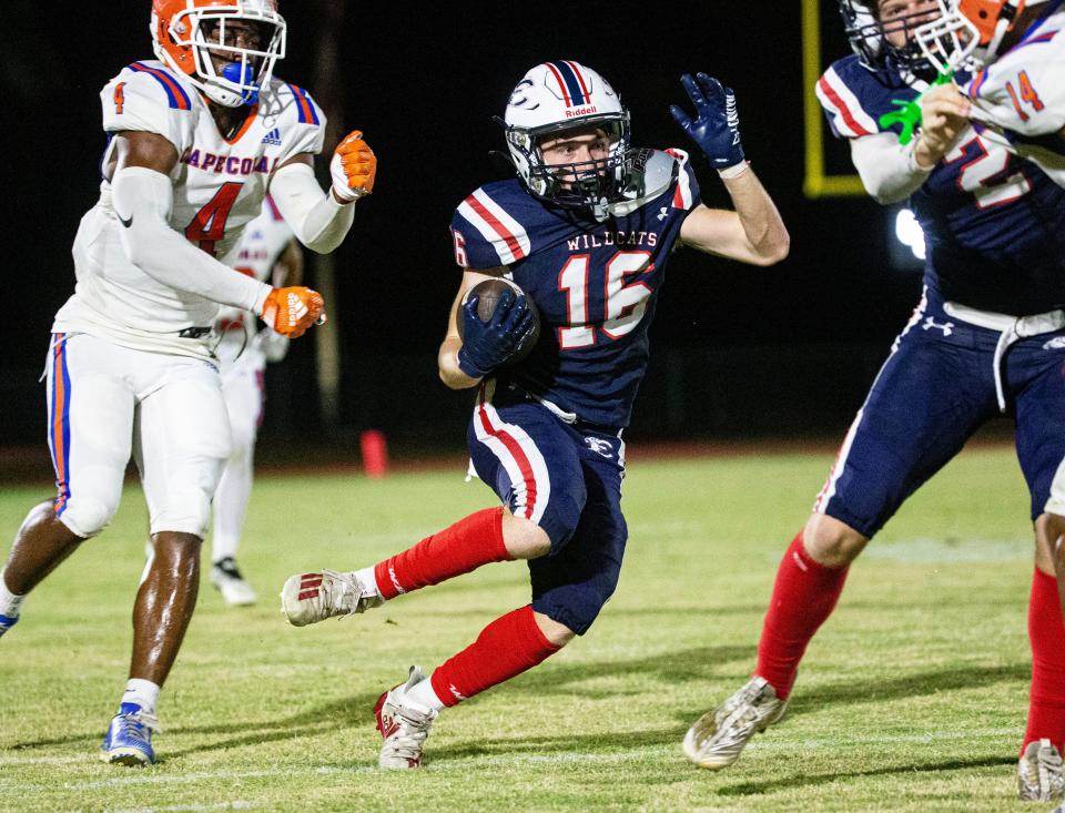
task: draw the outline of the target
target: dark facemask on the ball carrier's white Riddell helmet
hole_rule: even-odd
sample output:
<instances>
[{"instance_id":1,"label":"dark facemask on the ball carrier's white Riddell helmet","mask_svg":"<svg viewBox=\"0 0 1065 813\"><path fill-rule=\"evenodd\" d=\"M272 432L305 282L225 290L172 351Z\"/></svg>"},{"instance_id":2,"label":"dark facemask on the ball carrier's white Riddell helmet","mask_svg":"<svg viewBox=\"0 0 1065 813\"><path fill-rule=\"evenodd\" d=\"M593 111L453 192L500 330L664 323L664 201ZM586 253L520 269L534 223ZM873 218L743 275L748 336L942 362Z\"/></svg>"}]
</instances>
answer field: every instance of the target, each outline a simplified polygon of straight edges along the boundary
<instances>
[{"instance_id":1,"label":"dark facemask on the ball carrier's white Riddell helmet","mask_svg":"<svg viewBox=\"0 0 1065 813\"><path fill-rule=\"evenodd\" d=\"M547 163L540 145L574 130L602 131L610 144L607 156ZM510 125L506 128L506 138L518 174L537 197L567 209L590 210L599 221L607 219L611 204L625 200L622 191L628 184L633 153L628 111L531 129Z\"/></svg>"}]
</instances>

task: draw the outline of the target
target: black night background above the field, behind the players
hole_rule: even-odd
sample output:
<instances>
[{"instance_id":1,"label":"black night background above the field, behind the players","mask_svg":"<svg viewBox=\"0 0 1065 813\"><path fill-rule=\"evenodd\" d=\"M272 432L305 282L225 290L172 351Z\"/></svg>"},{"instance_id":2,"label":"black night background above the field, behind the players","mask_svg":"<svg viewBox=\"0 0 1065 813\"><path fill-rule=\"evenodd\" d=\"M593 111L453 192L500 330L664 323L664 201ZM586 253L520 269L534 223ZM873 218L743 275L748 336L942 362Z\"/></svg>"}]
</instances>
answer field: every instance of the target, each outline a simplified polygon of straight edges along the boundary
<instances>
[{"instance_id":1,"label":"black night background above the field, behind the players","mask_svg":"<svg viewBox=\"0 0 1065 813\"><path fill-rule=\"evenodd\" d=\"M288 55L275 72L312 93L323 4L281 2ZM848 53L834 2L823 7L822 65ZM99 90L123 65L152 58L149 0L57 8L4 0L0 10L8 155L0 444L40 445L42 463L37 379L52 314L73 289L78 221L98 195ZM369 427L385 429L400 451L463 443L470 394L447 390L435 367L459 281L447 226L466 194L501 176L488 155L503 149L491 116L514 83L538 62L575 59L619 91L638 145L688 148L668 112L686 101L682 72L704 70L734 88L748 156L792 236L790 258L767 270L692 251L673 257L629 437L841 435L916 301L920 274L891 268L889 213L874 202L802 195L798 2L352 2L342 32L342 126L364 130L379 165L376 191L358 204L336 255L328 303L343 352L341 420L322 425L314 346L303 339L272 370L265 433L305 426L341 449ZM840 145L829 150L831 165L849 170ZM704 201L728 205L694 160Z\"/></svg>"}]
</instances>

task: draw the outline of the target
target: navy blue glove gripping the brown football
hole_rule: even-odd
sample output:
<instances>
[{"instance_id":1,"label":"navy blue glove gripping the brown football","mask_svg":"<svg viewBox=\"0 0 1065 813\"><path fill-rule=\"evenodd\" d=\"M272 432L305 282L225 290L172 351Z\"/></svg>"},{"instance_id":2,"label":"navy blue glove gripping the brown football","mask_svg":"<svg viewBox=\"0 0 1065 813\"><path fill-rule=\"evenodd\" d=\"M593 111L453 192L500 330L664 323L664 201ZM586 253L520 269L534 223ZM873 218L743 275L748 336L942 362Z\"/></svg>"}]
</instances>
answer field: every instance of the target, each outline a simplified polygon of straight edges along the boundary
<instances>
[{"instance_id":1,"label":"navy blue glove gripping the brown football","mask_svg":"<svg viewBox=\"0 0 1065 813\"><path fill-rule=\"evenodd\" d=\"M463 346L458 350L458 367L470 378L484 378L506 362L534 327L532 309L524 296L504 291L487 322L477 315L479 298L470 296L459 314Z\"/></svg>"}]
</instances>

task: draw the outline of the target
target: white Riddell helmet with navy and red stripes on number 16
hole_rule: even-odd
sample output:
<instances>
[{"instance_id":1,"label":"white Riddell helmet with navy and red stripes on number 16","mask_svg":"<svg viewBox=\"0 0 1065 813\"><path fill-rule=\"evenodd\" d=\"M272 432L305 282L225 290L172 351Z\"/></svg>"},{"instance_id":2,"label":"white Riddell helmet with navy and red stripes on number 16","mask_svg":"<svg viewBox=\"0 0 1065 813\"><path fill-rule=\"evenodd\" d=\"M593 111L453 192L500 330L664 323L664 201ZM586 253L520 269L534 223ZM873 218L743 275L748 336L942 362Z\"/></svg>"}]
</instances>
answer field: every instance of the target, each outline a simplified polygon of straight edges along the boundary
<instances>
[{"instance_id":1,"label":"white Riddell helmet with navy and red stripes on number 16","mask_svg":"<svg viewBox=\"0 0 1065 813\"><path fill-rule=\"evenodd\" d=\"M515 169L534 195L561 206L590 209L599 220L622 199L632 152L629 111L596 71L571 60L538 64L515 87L500 123ZM588 126L607 133L610 151L605 160L544 163L539 145L545 136ZM576 180L562 184L559 176Z\"/></svg>"}]
</instances>

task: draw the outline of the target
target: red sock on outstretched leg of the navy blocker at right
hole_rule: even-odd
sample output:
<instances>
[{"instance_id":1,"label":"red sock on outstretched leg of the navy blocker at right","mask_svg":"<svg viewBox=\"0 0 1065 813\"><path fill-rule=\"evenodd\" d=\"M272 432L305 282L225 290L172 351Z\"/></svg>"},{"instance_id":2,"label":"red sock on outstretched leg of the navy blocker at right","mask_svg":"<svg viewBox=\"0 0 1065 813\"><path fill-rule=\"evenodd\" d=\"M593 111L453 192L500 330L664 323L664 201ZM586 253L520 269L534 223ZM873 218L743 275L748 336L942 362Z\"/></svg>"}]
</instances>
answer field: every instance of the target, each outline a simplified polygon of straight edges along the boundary
<instances>
[{"instance_id":1,"label":"red sock on outstretched leg of the navy blocker at right","mask_svg":"<svg viewBox=\"0 0 1065 813\"><path fill-rule=\"evenodd\" d=\"M781 700L791 693L807 644L832 614L848 568L819 565L802 547L799 532L777 569L777 582L758 642L754 674L764 678Z\"/></svg>"}]
</instances>

